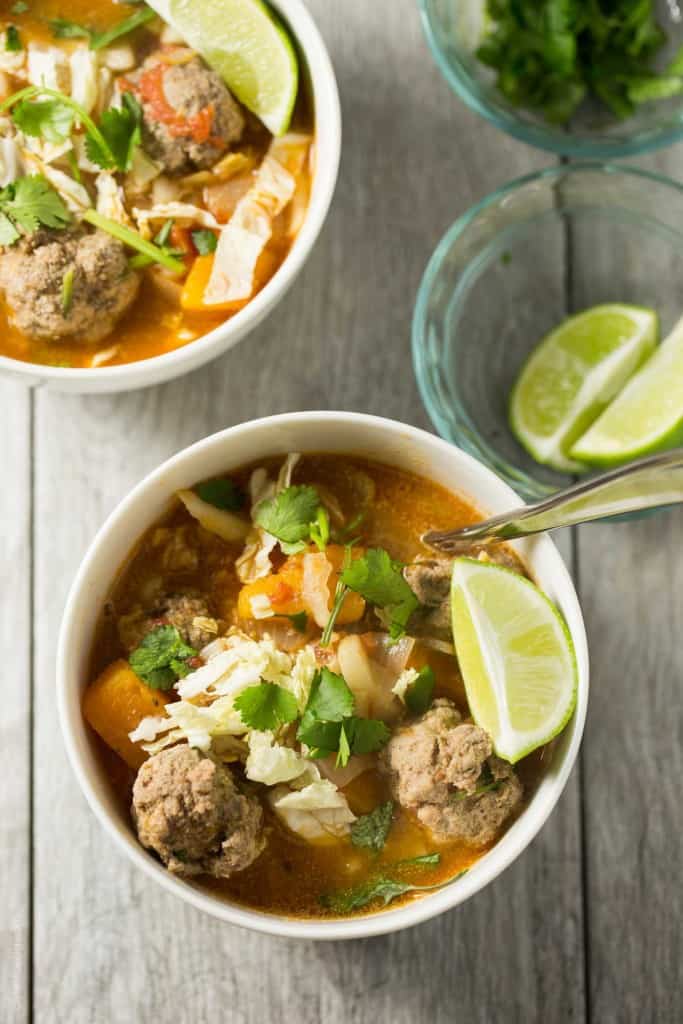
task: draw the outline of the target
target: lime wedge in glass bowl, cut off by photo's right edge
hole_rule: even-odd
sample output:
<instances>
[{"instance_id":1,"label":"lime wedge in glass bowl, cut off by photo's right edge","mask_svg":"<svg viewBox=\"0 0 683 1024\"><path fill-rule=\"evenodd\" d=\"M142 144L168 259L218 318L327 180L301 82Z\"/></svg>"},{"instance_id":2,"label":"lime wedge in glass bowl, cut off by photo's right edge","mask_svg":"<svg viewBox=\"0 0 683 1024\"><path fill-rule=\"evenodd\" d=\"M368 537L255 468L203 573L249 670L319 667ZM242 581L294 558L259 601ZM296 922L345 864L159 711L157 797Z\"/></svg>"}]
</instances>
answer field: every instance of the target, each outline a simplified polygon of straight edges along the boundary
<instances>
[{"instance_id":1,"label":"lime wedge in glass bowl, cut off by photo's right edge","mask_svg":"<svg viewBox=\"0 0 683 1024\"><path fill-rule=\"evenodd\" d=\"M571 450L614 466L683 442L683 319Z\"/></svg>"}]
</instances>

